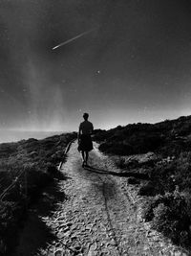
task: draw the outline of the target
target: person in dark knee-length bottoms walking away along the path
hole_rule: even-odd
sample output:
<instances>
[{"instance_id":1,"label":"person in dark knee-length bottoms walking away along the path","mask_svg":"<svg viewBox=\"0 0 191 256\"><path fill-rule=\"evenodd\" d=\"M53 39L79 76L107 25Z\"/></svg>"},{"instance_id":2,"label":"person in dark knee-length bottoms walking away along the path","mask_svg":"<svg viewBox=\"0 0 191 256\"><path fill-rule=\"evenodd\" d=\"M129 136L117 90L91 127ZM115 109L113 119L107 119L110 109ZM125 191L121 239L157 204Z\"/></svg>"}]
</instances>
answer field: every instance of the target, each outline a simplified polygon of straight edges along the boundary
<instances>
[{"instance_id":1,"label":"person in dark knee-length bottoms walking away along the path","mask_svg":"<svg viewBox=\"0 0 191 256\"><path fill-rule=\"evenodd\" d=\"M88 121L89 114L84 113L83 118L84 121L80 123L78 131L78 151L82 154L82 167L88 164L89 151L93 150L91 134L94 130L93 124Z\"/></svg>"}]
</instances>

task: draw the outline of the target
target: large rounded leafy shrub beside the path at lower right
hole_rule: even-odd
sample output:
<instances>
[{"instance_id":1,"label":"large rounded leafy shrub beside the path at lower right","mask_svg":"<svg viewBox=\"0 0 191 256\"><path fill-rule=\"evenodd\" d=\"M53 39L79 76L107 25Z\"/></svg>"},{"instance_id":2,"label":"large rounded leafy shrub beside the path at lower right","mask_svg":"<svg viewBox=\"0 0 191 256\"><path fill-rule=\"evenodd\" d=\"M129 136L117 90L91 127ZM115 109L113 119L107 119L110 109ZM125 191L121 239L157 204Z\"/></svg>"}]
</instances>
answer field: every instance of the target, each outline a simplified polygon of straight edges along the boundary
<instances>
[{"instance_id":1,"label":"large rounded leafy shrub beside the path at lower right","mask_svg":"<svg viewBox=\"0 0 191 256\"><path fill-rule=\"evenodd\" d=\"M191 197L175 191L147 202L142 212L145 221L152 221L153 228L169 237L174 243L189 245L191 239Z\"/></svg>"}]
</instances>

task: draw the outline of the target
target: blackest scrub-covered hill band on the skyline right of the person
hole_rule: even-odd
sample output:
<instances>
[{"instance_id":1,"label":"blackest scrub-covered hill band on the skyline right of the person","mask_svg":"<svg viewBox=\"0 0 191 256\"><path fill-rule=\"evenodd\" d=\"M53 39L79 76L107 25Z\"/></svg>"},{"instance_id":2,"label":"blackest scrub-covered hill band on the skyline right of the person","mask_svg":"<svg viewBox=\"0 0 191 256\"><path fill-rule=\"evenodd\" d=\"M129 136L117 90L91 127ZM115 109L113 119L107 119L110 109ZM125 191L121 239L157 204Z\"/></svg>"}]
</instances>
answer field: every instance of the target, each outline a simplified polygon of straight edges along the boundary
<instances>
[{"instance_id":1,"label":"blackest scrub-covered hill band on the skyline right of the person","mask_svg":"<svg viewBox=\"0 0 191 256\"><path fill-rule=\"evenodd\" d=\"M109 130L97 129L95 140L101 151L130 155L148 151L167 155L188 151L191 146L191 116L157 124L132 124Z\"/></svg>"}]
</instances>

